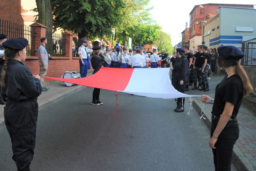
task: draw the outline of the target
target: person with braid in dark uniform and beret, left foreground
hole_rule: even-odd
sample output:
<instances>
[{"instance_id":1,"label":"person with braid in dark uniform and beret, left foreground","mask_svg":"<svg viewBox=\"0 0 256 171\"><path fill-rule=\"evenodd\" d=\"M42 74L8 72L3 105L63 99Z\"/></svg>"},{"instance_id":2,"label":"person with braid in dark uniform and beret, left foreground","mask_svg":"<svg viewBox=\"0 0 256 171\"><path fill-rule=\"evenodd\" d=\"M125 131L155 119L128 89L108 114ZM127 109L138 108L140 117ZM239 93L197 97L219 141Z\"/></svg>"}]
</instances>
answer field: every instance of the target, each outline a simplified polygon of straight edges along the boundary
<instances>
[{"instance_id":1,"label":"person with braid in dark uniform and beret, left foreground","mask_svg":"<svg viewBox=\"0 0 256 171\"><path fill-rule=\"evenodd\" d=\"M36 141L37 97L42 93L40 76L24 65L28 40L13 38L3 44L1 95L6 97L4 122L12 142L12 159L18 171L30 171Z\"/></svg>"}]
</instances>

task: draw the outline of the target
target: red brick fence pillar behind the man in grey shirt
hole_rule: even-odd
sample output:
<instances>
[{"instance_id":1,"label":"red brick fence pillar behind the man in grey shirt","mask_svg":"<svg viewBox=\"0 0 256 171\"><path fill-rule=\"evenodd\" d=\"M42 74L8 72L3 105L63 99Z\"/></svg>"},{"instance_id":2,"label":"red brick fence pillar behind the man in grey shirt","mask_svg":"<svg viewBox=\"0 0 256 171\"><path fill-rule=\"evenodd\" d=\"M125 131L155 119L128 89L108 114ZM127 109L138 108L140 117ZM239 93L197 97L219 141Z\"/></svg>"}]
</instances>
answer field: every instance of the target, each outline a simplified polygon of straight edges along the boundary
<instances>
[{"instance_id":1,"label":"red brick fence pillar behind the man in grey shirt","mask_svg":"<svg viewBox=\"0 0 256 171\"><path fill-rule=\"evenodd\" d=\"M39 23L33 23L30 25L31 30L34 29L35 36L31 37L31 47L35 47L35 51L38 51L39 46L41 45L40 38L46 36L46 26L39 24ZM35 56L37 56L37 53L35 53Z\"/></svg>"}]
</instances>

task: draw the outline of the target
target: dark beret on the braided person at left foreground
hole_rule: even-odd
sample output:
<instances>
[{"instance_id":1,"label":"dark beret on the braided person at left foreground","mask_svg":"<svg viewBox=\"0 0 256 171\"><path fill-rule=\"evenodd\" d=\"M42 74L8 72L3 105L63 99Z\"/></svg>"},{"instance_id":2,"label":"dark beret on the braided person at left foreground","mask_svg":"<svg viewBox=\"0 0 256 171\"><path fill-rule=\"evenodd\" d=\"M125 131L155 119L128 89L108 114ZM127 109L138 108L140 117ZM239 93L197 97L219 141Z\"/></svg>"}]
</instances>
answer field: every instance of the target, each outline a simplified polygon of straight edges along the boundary
<instances>
[{"instance_id":1,"label":"dark beret on the braided person at left foreground","mask_svg":"<svg viewBox=\"0 0 256 171\"><path fill-rule=\"evenodd\" d=\"M2 45L9 49L24 49L28 46L28 40L25 38L12 38L4 41Z\"/></svg>"}]
</instances>

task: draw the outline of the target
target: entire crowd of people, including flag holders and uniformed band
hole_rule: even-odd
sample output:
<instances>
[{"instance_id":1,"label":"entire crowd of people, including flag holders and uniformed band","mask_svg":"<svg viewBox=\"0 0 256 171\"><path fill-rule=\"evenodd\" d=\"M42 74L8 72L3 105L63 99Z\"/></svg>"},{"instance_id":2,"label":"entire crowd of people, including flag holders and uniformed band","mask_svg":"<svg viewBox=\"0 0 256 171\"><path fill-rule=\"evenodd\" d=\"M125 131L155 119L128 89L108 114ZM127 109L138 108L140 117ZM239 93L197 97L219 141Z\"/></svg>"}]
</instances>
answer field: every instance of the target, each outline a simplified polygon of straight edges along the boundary
<instances>
[{"instance_id":1,"label":"entire crowd of people, including flag holders and uniformed band","mask_svg":"<svg viewBox=\"0 0 256 171\"><path fill-rule=\"evenodd\" d=\"M26 60L26 47L28 40L25 38L12 38L7 40L7 35L0 34L0 94L6 101L4 108L4 122L12 142L12 159L18 171L30 171L30 164L34 156L36 140L36 123L38 117L37 98L42 91L49 88L45 85L43 77L47 73L50 54L46 51L47 39L40 39L38 48L39 75L32 75L24 65ZM216 86L215 98L202 95L204 103L213 104L212 126L209 146L214 155L215 170L230 170L232 149L239 136L239 126L236 119L242 103L242 97L252 91L250 81L239 64L244 53L234 46L220 46L217 50L208 49L207 46L198 45L197 49L188 46L177 48L172 57L168 57L165 50L157 54L157 49L148 51L143 46L134 49L120 47L117 43L112 51L109 47L90 47L86 39L82 39L82 46L78 49L81 77L86 77L87 69L94 69L93 74L101 67L120 68L151 68L168 67L173 71L172 84L179 92L188 90L189 83L194 84L192 90L209 91L208 73L214 75L216 61L220 69L227 73L224 79ZM1 55L4 51L4 55ZM208 53L210 51L210 53ZM161 57L159 57L161 55ZM110 62L107 62L106 58ZM168 65L167 65L168 64ZM211 67L210 67L211 66ZM210 70L211 69L211 70ZM198 81L198 86L197 86ZM0 102L1 102L0 99ZM184 98L177 98L175 112L184 112ZM94 88L92 104L100 106L100 89Z\"/></svg>"}]
</instances>

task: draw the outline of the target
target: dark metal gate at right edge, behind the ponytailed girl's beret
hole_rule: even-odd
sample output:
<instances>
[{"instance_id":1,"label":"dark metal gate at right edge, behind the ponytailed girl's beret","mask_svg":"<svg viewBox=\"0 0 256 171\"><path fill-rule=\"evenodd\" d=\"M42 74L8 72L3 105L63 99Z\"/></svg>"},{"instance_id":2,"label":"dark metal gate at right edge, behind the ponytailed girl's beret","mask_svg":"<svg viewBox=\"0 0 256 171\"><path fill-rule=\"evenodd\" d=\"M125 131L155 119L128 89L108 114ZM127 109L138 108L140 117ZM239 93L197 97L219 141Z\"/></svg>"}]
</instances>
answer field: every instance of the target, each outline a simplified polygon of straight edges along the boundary
<instances>
[{"instance_id":1,"label":"dark metal gate at right edge, behind the ponytailed girl's beret","mask_svg":"<svg viewBox=\"0 0 256 171\"><path fill-rule=\"evenodd\" d=\"M241 60L241 65L256 67L256 38L243 41L242 51L245 56Z\"/></svg>"}]
</instances>

